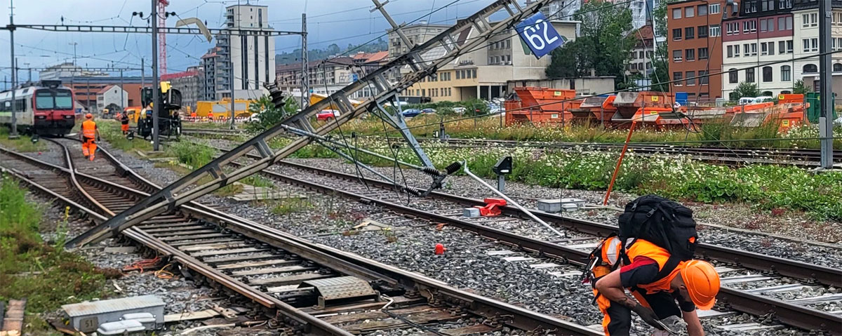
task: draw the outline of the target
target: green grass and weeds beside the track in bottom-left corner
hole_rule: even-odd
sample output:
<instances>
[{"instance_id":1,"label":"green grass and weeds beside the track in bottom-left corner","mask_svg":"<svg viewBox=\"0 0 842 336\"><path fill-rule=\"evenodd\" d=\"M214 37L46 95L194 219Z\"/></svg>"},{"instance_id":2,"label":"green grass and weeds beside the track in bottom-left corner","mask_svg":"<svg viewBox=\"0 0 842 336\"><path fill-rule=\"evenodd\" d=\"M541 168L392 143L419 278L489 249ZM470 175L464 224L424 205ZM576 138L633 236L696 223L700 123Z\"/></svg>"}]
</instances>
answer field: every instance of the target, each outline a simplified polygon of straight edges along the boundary
<instances>
[{"instance_id":1,"label":"green grass and weeds beside the track in bottom-left corner","mask_svg":"<svg viewBox=\"0 0 842 336\"><path fill-rule=\"evenodd\" d=\"M45 243L39 234L43 211L13 179L0 177L0 301L27 298L29 334L55 333L37 314L102 297L106 275L119 275L67 253L63 234Z\"/></svg>"}]
</instances>

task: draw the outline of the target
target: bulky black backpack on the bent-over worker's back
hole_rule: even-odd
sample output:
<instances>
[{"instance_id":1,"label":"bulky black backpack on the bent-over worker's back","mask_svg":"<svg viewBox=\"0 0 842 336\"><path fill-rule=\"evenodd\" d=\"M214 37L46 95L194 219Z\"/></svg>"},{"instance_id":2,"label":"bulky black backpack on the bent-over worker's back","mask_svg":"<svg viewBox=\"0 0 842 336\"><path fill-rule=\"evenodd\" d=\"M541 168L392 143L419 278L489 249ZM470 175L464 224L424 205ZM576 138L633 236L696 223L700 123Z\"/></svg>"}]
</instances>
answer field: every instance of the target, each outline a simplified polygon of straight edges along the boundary
<instances>
[{"instance_id":1,"label":"bulky black backpack on the bent-over worker's back","mask_svg":"<svg viewBox=\"0 0 842 336\"><path fill-rule=\"evenodd\" d=\"M693 211L684 205L667 200L658 195L645 195L626 204L626 211L619 219L620 236L624 249L632 246L637 239L644 239L658 247L666 249L670 258L664 265L658 279L669 275L681 261L693 259L699 237L695 232ZM625 251L622 251L624 263L629 264Z\"/></svg>"}]
</instances>

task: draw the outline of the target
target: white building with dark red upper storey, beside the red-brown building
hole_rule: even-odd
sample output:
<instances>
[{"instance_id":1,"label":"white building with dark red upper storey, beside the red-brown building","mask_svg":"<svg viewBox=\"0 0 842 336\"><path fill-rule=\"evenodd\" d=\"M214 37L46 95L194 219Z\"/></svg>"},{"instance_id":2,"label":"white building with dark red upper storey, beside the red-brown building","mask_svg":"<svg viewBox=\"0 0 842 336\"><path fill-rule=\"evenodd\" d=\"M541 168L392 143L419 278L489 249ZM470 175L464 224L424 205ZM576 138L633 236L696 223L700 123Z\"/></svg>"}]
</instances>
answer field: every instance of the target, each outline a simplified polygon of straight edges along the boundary
<instances>
[{"instance_id":1,"label":"white building with dark red upper storey, beside the red-brown building","mask_svg":"<svg viewBox=\"0 0 842 336\"><path fill-rule=\"evenodd\" d=\"M722 96L736 100L739 83L754 83L761 95L791 93L797 80L794 62L763 65L791 60L795 56L791 0L744 0L739 16L722 20Z\"/></svg>"}]
</instances>

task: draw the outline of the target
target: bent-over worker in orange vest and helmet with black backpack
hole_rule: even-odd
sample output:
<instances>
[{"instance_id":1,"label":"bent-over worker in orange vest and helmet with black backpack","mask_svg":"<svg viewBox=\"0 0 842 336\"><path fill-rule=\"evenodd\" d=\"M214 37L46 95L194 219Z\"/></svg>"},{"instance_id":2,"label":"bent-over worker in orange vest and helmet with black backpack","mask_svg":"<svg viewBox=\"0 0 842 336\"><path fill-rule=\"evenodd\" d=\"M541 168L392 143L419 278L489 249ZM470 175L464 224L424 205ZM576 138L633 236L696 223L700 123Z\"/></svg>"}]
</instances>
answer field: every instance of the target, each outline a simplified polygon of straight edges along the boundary
<instances>
[{"instance_id":1,"label":"bent-over worker in orange vest and helmet with black backpack","mask_svg":"<svg viewBox=\"0 0 842 336\"><path fill-rule=\"evenodd\" d=\"M594 249L585 274L604 315L605 334L632 333L636 312L658 329L655 335L684 324L690 336L704 335L696 309L713 307L720 282L713 265L692 259L697 243L692 211L683 205L656 195L626 205L619 235Z\"/></svg>"}]
</instances>

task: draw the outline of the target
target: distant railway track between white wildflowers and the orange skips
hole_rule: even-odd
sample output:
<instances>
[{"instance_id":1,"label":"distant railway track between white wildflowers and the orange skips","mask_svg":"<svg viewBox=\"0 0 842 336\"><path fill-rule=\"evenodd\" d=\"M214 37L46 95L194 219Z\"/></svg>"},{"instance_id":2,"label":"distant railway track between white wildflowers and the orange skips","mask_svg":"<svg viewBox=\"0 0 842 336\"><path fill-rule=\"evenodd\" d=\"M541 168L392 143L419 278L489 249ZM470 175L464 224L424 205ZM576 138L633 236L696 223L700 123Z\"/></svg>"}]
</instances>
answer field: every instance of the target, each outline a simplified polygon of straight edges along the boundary
<instances>
[{"instance_id":1,"label":"distant railway track between white wildflowers and the orange skips","mask_svg":"<svg viewBox=\"0 0 842 336\"><path fill-rule=\"evenodd\" d=\"M399 140L393 138L393 140ZM601 152L620 152L622 143L576 143L576 142L546 142L546 141L514 141L490 139L457 139L445 140L435 138L418 138L419 142L429 144L443 144L446 147L533 147L536 149L584 149ZM731 167L741 167L749 164L777 164L792 165L801 168L816 168L821 159L818 149L792 148L726 148L726 147L682 147L676 145L645 145L632 144L629 149L643 155L689 155L705 163L722 164ZM834 153L834 162L842 161L842 154Z\"/></svg>"}]
</instances>

